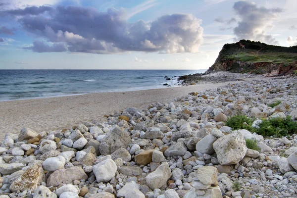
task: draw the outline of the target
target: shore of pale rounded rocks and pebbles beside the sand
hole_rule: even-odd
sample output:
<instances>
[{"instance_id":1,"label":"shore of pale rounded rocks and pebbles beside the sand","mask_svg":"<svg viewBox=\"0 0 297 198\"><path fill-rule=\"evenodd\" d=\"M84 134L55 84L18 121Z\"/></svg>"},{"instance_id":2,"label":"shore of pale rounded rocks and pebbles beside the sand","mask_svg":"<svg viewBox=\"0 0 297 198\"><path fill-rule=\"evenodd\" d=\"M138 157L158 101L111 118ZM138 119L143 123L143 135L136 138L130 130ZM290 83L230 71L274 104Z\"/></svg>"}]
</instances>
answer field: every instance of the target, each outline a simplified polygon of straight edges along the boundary
<instances>
[{"instance_id":1,"label":"shore of pale rounded rocks and pebbles beside the sand","mask_svg":"<svg viewBox=\"0 0 297 198\"><path fill-rule=\"evenodd\" d=\"M254 128L260 119L296 121L296 82L193 90L71 129L6 134L0 198L296 198L297 132L263 137L225 124L239 114L255 118Z\"/></svg>"}]
</instances>

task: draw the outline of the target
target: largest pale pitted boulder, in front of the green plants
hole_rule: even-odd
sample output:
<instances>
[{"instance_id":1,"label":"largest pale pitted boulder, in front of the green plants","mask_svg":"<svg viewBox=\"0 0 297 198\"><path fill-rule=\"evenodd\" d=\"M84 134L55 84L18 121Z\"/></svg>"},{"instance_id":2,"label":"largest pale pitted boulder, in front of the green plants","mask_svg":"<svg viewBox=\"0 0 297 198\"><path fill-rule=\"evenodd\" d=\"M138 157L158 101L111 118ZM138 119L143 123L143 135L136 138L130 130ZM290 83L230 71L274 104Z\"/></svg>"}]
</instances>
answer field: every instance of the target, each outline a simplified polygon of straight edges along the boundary
<instances>
[{"instance_id":1,"label":"largest pale pitted boulder, in front of the green plants","mask_svg":"<svg viewBox=\"0 0 297 198\"><path fill-rule=\"evenodd\" d=\"M221 165L237 164L247 152L246 141L239 132L225 135L213 143Z\"/></svg>"}]
</instances>

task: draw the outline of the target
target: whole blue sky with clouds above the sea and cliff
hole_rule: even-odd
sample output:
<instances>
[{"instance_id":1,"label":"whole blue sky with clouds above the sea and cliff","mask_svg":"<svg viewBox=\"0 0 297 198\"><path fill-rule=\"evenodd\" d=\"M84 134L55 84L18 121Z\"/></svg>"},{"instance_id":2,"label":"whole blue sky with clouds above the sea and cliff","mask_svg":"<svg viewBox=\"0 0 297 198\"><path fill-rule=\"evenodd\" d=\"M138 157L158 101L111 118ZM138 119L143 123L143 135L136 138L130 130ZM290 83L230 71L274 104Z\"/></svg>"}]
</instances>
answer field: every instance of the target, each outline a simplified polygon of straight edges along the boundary
<instances>
[{"instance_id":1,"label":"whole blue sky with clouds above the sea and cliff","mask_svg":"<svg viewBox=\"0 0 297 198\"><path fill-rule=\"evenodd\" d=\"M0 69L207 69L241 39L297 45L297 0L0 0Z\"/></svg>"}]
</instances>

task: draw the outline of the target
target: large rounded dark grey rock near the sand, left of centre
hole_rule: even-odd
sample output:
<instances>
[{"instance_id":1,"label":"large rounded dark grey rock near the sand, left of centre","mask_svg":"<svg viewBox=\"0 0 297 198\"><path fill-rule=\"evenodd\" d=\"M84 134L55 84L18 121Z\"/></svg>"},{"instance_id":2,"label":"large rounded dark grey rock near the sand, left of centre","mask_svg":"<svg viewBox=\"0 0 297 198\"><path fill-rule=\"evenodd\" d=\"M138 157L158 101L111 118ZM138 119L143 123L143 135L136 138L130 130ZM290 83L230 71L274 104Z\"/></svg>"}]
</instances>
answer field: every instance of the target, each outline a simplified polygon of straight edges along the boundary
<instances>
[{"instance_id":1,"label":"large rounded dark grey rock near the sand, left of centre","mask_svg":"<svg viewBox=\"0 0 297 198\"><path fill-rule=\"evenodd\" d=\"M127 148L132 142L130 136L119 128L113 129L100 143L100 153L102 155L112 154L119 148Z\"/></svg>"}]
</instances>

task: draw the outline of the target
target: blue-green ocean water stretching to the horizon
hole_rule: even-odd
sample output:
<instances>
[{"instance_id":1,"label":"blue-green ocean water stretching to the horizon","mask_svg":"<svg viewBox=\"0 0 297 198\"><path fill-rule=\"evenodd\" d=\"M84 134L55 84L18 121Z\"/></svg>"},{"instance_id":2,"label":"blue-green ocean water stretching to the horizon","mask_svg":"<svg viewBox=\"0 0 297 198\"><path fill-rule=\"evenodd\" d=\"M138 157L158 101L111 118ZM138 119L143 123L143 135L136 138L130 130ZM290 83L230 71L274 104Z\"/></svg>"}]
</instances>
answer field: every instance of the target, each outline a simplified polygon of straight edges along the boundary
<instances>
[{"instance_id":1,"label":"blue-green ocean water stretching to the horizon","mask_svg":"<svg viewBox=\"0 0 297 198\"><path fill-rule=\"evenodd\" d=\"M204 71L0 70L0 101L176 87L178 76Z\"/></svg>"}]
</instances>

